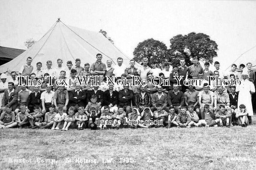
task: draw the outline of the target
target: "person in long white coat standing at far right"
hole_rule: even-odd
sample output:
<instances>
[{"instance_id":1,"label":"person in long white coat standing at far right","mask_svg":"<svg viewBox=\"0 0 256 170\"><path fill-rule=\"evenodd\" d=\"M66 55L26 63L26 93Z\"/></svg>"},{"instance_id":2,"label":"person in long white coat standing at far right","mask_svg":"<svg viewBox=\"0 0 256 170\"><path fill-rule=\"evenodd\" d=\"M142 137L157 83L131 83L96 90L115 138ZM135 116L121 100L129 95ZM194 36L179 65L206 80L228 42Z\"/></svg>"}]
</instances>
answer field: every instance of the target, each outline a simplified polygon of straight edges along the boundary
<instances>
[{"instance_id":1,"label":"person in long white coat standing at far right","mask_svg":"<svg viewBox=\"0 0 256 170\"><path fill-rule=\"evenodd\" d=\"M247 117L249 119L249 124L252 123L253 116L253 105L251 94L255 92L254 84L249 81L247 78L249 77L247 71L243 71L241 84L236 87L236 91L239 91L238 95L238 107L240 104L244 104L246 107L246 111L248 113Z\"/></svg>"}]
</instances>

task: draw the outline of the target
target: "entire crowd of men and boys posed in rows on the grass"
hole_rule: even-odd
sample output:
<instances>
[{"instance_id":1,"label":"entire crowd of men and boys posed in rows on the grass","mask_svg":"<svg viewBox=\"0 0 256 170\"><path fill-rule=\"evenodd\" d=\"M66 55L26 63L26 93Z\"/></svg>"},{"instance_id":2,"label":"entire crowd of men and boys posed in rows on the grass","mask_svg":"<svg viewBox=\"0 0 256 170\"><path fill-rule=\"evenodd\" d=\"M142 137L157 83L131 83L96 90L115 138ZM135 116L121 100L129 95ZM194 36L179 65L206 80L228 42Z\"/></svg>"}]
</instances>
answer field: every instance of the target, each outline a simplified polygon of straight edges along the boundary
<instances>
[{"instance_id":1,"label":"entire crowd of men and boys posed in rows on the grass","mask_svg":"<svg viewBox=\"0 0 256 170\"><path fill-rule=\"evenodd\" d=\"M114 67L111 66L112 61L108 60L106 67L101 58L97 54L97 61L91 66L86 63L84 68L80 67L80 59L76 59L74 67L68 61L67 68L62 66L61 59L58 59L56 68L51 68L52 62L47 61L47 68L42 70L42 64L38 62L37 69L33 70L32 58L28 57L27 64L19 74L29 76L29 79L42 79L41 86L26 86L25 81L18 86L16 72L11 73L12 80L8 82L6 75L1 74L0 128L16 126L68 130L73 127L82 130L164 126L246 127L252 123L246 104L240 103L238 106L239 94L235 86L209 86L207 83L207 76L248 79L252 83L255 74L251 70L251 63L247 63L246 73L236 72L236 65L232 65L232 69L224 73L219 69L219 62L215 62L216 70L212 72L209 70L209 63L206 62L203 69L196 58L193 58L193 65L189 67L185 65L184 58L181 58L180 66L172 65L172 70L169 64L165 65L164 70L156 68L154 62L151 64L152 68L149 68L147 58L143 60L142 68L134 67L134 60L130 61L130 67L126 67L122 65L122 58L118 58L118 65ZM244 67L240 65L241 69ZM100 76L100 85L81 84L76 77L90 75ZM146 84L130 86L134 75L146 79ZM72 83L50 85L47 76L70 79ZM105 76L126 79L128 83L107 83ZM169 79L170 86L154 85L154 76ZM175 76L183 76L183 80L204 79L206 82L200 85L178 85ZM250 92L255 92L254 85Z\"/></svg>"}]
</instances>

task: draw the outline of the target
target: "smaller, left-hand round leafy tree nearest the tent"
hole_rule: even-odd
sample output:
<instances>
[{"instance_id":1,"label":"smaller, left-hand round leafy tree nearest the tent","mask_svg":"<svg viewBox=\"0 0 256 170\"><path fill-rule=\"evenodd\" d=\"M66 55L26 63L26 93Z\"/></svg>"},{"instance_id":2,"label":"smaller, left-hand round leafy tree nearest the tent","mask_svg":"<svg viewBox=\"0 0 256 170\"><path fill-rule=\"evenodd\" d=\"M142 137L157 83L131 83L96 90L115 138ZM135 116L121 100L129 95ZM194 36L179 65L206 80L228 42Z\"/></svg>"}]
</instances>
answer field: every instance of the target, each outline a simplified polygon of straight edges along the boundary
<instances>
[{"instance_id":1,"label":"smaller, left-hand round leafy tree nearest the tent","mask_svg":"<svg viewBox=\"0 0 256 170\"><path fill-rule=\"evenodd\" d=\"M162 66L165 62L171 62L167 46L153 38L140 42L134 49L135 61L142 63L144 57L148 58L149 65L152 61L156 61L159 66Z\"/></svg>"}]
</instances>

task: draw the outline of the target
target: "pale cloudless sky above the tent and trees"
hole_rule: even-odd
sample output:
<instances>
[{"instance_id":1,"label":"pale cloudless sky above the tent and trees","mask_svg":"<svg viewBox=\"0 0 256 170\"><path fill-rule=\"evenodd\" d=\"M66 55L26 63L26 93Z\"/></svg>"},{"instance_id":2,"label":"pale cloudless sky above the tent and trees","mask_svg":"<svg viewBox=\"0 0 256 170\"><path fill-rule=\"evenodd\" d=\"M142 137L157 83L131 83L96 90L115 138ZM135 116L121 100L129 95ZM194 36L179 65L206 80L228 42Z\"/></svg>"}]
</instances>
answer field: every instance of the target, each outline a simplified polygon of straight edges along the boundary
<instances>
[{"instance_id":1,"label":"pale cloudless sky above the tent and trees","mask_svg":"<svg viewBox=\"0 0 256 170\"><path fill-rule=\"evenodd\" d=\"M171 37L190 32L216 41L218 60L225 63L256 45L256 1L238 0L1 0L0 45L25 49L25 40L39 40L58 17L68 25L107 31L130 57L147 38L169 47ZM255 58L255 52L243 57Z\"/></svg>"}]
</instances>

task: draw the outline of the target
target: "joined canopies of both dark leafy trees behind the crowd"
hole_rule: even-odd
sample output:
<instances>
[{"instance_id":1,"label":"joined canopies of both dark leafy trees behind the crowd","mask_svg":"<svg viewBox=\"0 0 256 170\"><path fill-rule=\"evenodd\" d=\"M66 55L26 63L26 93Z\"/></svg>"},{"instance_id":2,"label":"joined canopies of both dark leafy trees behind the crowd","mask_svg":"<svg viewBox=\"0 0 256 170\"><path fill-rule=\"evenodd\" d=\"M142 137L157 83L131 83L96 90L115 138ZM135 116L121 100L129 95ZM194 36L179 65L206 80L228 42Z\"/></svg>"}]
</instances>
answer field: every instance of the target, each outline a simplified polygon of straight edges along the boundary
<instances>
[{"instance_id":1,"label":"joined canopies of both dark leafy trees behind the crowd","mask_svg":"<svg viewBox=\"0 0 256 170\"><path fill-rule=\"evenodd\" d=\"M213 57L217 57L218 45L207 34L179 34L172 37L170 43L170 49L167 49L163 42L153 38L144 40L134 49L134 60L141 63L147 57L149 65L156 61L162 67L166 62L178 65L180 58L185 58L187 65L191 65L192 57L209 63L213 62Z\"/></svg>"}]
</instances>

